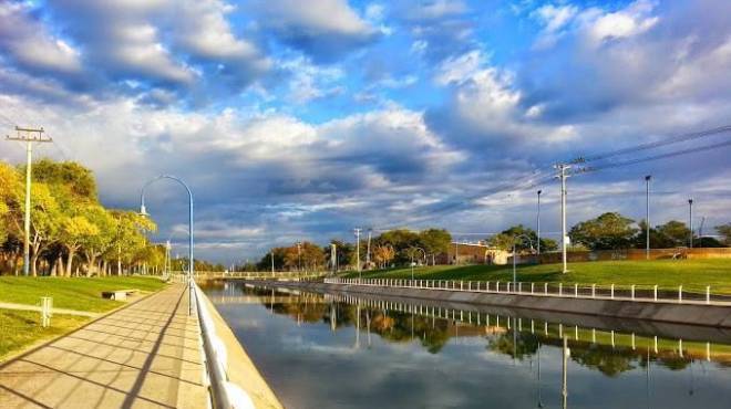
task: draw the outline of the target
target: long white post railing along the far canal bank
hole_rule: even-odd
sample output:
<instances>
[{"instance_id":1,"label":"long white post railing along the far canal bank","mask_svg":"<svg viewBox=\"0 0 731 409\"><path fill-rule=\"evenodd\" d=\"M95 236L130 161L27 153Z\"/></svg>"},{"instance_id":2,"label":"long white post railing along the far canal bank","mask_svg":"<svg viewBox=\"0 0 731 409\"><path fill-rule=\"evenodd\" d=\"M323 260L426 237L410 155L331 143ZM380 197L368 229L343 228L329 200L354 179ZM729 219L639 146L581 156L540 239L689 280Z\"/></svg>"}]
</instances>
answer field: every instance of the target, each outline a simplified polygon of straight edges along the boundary
<instances>
[{"instance_id":1,"label":"long white post railing along the far canal bank","mask_svg":"<svg viewBox=\"0 0 731 409\"><path fill-rule=\"evenodd\" d=\"M731 305L731 295L713 294L711 286L706 292L660 290L659 285L579 284L511 281L455 281L455 280L408 280L408 279L342 279L327 277L327 284L387 286L435 291L461 291L511 295L550 296L563 298L617 300L676 304Z\"/></svg>"}]
</instances>

